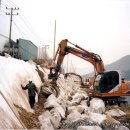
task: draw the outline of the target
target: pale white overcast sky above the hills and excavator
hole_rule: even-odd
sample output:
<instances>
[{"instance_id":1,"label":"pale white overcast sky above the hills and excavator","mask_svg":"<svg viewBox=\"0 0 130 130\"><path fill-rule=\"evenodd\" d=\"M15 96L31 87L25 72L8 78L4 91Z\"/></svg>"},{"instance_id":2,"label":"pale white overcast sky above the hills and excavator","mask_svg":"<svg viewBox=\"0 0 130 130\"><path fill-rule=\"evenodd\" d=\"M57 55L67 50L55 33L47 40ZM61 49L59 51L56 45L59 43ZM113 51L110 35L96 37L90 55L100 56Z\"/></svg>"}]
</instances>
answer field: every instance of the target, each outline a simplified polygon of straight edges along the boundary
<instances>
[{"instance_id":1,"label":"pale white overcast sky above the hills and excavator","mask_svg":"<svg viewBox=\"0 0 130 130\"><path fill-rule=\"evenodd\" d=\"M7 5L19 7L19 11L14 11L19 15L13 16L12 38L30 39L39 47L49 45L50 56L53 55L55 20L56 49L62 39L68 39L99 54L105 65L129 55L129 0L3 0L0 33L6 36L9 35L9 16L3 12L9 12L5 9ZM88 71L92 67L75 56L68 59L76 69ZM66 61L67 58L65 64Z\"/></svg>"}]
</instances>

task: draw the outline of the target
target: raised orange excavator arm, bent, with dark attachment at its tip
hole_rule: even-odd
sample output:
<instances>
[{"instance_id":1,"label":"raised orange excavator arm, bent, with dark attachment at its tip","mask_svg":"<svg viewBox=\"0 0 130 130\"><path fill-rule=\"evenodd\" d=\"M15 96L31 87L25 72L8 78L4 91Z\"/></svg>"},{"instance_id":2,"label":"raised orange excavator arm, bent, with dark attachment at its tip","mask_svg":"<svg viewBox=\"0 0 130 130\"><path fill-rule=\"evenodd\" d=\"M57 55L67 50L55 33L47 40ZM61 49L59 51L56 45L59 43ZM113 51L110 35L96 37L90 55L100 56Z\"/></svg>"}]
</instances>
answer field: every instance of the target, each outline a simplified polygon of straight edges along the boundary
<instances>
[{"instance_id":1,"label":"raised orange excavator arm, bent, with dark attachment at its tip","mask_svg":"<svg viewBox=\"0 0 130 130\"><path fill-rule=\"evenodd\" d=\"M83 48L79 47L78 45L74 45L73 43L71 44L74 45L75 48L67 46L68 43L71 42L69 42L67 39L60 42L56 55L54 57L54 62L57 59L57 63L56 65L52 65L52 67L50 67L50 74L48 75L49 79L58 78L60 74L61 64L64 60L65 55L68 53L71 53L93 64L97 73L102 73L105 70L103 61L98 54L84 50Z\"/></svg>"}]
</instances>

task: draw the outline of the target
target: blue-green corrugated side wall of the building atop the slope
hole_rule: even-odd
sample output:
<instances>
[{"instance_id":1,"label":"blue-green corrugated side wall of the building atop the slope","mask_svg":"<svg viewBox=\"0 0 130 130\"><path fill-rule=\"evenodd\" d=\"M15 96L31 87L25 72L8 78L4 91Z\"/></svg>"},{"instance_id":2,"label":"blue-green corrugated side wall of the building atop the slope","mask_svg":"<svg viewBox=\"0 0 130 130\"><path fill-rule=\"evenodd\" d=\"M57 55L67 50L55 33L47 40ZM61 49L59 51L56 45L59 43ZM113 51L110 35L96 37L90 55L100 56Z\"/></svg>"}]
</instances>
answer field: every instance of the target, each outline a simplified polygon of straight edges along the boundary
<instances>
[{"instance_id":1,"label":"blue-green corrugated side wall of the building atop the slope","mask_svg":"<svg viewBox=\"0 0 130 130\"><path fill-rule=\"evenodd\" d=\"M19 54L23 60L36 60L38 56L38 47L29 40L19 39Z\"/></svg>"}]
</instances>

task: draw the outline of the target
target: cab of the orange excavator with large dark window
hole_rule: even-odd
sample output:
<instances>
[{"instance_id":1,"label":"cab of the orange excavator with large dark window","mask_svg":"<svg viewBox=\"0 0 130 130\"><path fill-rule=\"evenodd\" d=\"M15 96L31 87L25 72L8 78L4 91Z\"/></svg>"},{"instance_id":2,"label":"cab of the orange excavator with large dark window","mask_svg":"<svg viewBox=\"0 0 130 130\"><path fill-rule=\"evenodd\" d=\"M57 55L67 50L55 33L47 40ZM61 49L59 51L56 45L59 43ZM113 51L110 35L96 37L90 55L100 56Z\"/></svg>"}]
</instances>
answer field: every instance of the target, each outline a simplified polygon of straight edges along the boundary
<instances>
[{"instance_id":1,"label":"cab of the orange excavator with large dark window","mask_svg":"<svg viewBox=\"0 0 130 130\"><path fill-rule=\"evenodd\" d=\"M118 71L106 71L97 75L94 82L94 89L100 93L108 93L119 85Z\"/></svg>"}]
</instances>

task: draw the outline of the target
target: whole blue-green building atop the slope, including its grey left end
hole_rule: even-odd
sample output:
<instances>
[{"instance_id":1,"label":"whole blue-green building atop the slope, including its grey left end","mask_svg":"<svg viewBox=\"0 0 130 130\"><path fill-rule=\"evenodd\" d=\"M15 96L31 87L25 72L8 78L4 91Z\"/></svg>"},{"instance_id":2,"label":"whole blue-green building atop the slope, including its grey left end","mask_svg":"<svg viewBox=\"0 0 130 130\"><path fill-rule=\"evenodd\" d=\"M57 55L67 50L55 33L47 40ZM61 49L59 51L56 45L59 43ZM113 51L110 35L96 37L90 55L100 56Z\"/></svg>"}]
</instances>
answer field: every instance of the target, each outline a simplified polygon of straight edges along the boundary
<instances>
[{"instance_id":1,"label":"whole blue-green building atop the slope, including its grey left end","mask_svg":"<svg viewBox=\"0 0 130 130\"><path fill-rule=\"evenodd\" d=\"M6 42L3 44L3 49L1 49L2 55L4 53L10 54L14 58L22 60L37 60L38 47L34 45L31 41L25 39L17 39L16 42L11 40L11 43Z\"/></svg>"}]
</instances>

